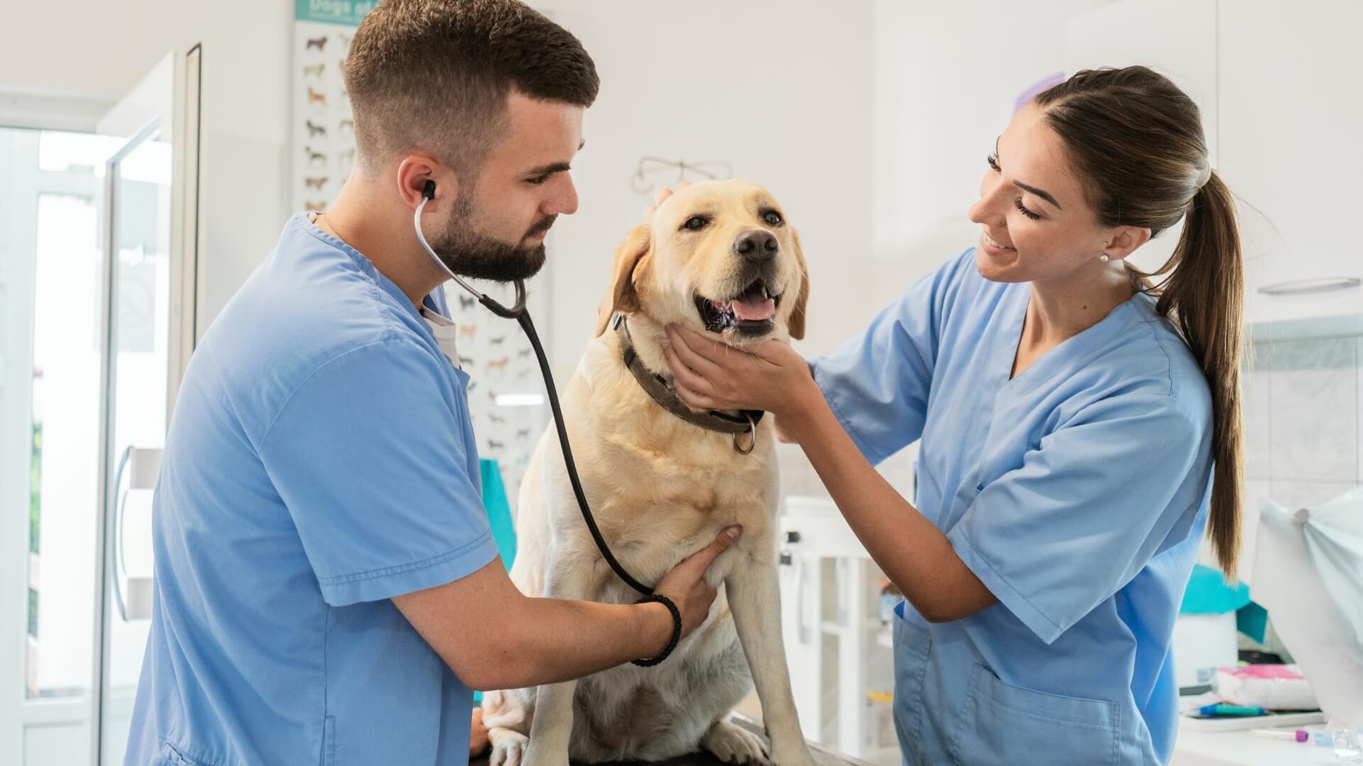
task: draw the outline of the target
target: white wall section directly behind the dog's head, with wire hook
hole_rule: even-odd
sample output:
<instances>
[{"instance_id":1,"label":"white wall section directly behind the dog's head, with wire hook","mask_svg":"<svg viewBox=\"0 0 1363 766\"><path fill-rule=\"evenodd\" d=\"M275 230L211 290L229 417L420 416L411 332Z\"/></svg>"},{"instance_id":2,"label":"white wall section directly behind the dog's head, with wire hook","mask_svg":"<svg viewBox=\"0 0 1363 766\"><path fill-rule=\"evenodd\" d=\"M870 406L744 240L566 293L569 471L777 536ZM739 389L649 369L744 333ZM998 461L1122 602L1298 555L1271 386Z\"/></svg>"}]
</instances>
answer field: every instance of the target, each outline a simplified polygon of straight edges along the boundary
<instances>
[{"instance_id":1,"label":"white wall section directly behind the dog's head, with wire hook","mask_svg":"<svg viewBox=\"0 0 1363 766\"><path fill-rule=\"evenodd\" d=\"M652 202L630 188L643 155L728 161L776 195L810 262L801 350L831 350L870 319L868 0L594 0L548 11L601 75L574 162L581 209L559 219L551 254L556 368L577 364L615 248Z\"/></svg>"}]
</instances>

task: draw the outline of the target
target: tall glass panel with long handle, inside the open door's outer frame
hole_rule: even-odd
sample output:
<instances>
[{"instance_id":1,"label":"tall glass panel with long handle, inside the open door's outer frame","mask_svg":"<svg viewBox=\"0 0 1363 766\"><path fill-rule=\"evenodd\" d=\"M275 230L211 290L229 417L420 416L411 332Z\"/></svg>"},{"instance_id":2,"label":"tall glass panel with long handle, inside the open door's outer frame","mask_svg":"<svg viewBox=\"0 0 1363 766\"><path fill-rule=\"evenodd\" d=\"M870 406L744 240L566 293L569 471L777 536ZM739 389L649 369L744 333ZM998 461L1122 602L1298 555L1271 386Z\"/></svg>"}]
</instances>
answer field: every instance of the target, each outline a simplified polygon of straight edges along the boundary
<instances>
[{"instance_id":1,"label":"tall glass panel with long handle, inside the open door's outer frame","mask_svg":"<svg viewBox=\"0 0 1363 766\"><path fill-rule=\"evenodd\" d=\"M121 759L151 617L151 502L166 429L170 146L149 125L109 159L105 260L102 763ZM132 470L129 470L129 468ZM150 484L146 481L150 474ZM138 480L142 481L138 481Z\"/></svg>"}]
</instances>

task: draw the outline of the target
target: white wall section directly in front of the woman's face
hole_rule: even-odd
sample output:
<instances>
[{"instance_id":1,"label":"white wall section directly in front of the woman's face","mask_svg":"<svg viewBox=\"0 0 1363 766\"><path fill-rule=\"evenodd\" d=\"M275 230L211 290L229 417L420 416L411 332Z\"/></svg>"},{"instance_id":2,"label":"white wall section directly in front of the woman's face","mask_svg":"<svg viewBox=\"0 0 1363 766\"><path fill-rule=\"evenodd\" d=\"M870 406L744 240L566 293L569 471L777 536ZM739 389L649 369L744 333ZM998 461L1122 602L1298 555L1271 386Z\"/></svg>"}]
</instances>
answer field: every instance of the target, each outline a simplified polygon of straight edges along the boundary
<instances>
[{"instance_id":1,"label":"white wall section directly in front of the woman's face","mask_svg":"<svg viewBox=\"0 0 1363 766\"><path fill-rule=\"evenodd\" d=\"M875 0L875 305L976 241L966 211L1014 101L1065 70L1065 23L1111 1Z\"/></svg>"}]
</instances>

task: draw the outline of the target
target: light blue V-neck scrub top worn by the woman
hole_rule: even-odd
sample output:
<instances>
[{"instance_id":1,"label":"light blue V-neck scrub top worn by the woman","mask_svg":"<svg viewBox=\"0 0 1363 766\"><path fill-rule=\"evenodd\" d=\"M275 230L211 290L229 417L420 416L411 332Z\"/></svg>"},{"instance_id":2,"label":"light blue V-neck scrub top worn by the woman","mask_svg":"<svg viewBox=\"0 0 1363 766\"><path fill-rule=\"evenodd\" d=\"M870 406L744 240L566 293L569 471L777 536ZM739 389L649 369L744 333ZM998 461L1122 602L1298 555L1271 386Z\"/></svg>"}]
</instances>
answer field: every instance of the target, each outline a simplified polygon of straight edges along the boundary
<instances>
[{"instance_id":1,"label":"light blue V-neck scrub top worn by the woman","mask_svg":"<svg viewBox=\"0 0 1363 766\"><path fill-rule=\"evenodd\" d=\"M1137 294L1010 380L1029 294L972 248L812 363L871 462L921 438L915 506L999 600L940 624L900 605L895 728L909 763L1165 763L1206 379Z\"/></svg>"}]
</instances>

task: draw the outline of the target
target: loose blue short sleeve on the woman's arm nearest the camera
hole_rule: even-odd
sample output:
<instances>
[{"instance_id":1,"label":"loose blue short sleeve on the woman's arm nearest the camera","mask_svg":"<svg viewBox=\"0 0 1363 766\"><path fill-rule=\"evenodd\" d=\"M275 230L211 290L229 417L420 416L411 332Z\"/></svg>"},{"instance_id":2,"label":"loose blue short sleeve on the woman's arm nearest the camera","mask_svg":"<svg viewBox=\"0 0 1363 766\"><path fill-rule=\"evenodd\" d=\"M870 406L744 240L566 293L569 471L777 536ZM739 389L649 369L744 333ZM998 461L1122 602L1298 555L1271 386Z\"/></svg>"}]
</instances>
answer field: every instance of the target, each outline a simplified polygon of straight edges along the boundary
<instances>
[{"instance_id":1,"label":"loose blue short sleeve on the woman's arm nearest the camera","mask_svg":"<svg viewBox=\"0 0 1363 766\"><path fill-rule=\"evenodd\" d=\"M1100 399L985 485L947 533L961 560L1045 643L1145 567L1174 525L1205 425L1171 397ZM1152 450L1152 444L1160 448ZM1063 566L1056 566L1063 562Z\"/></svg>"}]
</instances>

